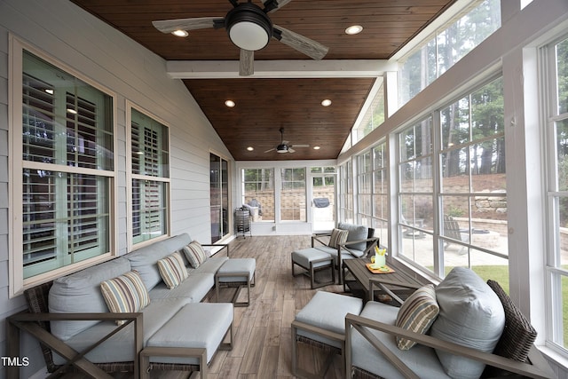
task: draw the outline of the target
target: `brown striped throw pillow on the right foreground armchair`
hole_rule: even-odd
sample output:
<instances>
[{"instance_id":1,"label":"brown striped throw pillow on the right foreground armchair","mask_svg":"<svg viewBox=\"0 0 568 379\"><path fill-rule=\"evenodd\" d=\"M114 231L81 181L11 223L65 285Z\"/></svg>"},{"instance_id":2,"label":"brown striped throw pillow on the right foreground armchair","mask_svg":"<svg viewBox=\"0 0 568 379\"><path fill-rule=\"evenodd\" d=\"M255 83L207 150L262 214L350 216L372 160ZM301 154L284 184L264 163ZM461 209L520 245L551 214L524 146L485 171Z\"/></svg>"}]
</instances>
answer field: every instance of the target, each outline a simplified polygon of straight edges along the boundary
<instances>
[{"instance_id":1,"label":"brown striped throw pillow on the right foreground armchair","mask_svg":"<svg viewBox=\"0 0 568 379\"><path fill-rule=\"evenodd\" d=\"M395 325L415 333L425 334L438 317L440 308L436 301L434 286L428 284L418 288L400 306ZM408 350L416 344L406 338L397 337L400 350Z\"/></svg>"}]
</instances>

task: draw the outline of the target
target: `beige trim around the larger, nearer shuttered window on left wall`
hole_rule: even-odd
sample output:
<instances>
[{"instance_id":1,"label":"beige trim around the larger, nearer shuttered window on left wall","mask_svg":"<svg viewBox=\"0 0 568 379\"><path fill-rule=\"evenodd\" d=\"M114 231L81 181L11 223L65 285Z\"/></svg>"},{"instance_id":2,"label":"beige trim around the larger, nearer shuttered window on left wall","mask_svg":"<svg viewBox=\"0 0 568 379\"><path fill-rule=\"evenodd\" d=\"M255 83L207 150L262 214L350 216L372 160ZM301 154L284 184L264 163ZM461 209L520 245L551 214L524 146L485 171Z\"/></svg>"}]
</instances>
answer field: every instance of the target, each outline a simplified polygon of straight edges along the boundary
<instances>
[{"instance_id":1,"label":"beige trim around the larger, nearer shuttered window on left wall","mask_svg":"<svg viewBox=\"0 0 568 379\"><path fill-rule=\"evenodd\" d=\"M23 114L23 102L22 102L22 73L23 73L23 51L29 51L30 53L36 55L38 58L45 60L51 65L58 67L60 70L65 71L69 75L75 76L77 79L81 80L93 88L104 92L110 99L113 100L112 114L113 114L113 144L114 144L114 170L96 170L96 169L79 169L67 167L66 172L70 173L86 173L90 175L96 175L99 177L106 177L110 180L109 190L110 190L110 200L109 200L109 222L110 227L108 231L109 239L109 251L101 254L97 257L91 257L85 259L81 262L75 264L66 265L59 267L55 270L49 272L43 272L32 276L28 279L24 278L23 275L23 236L22 236L22 209L21 204L23 203L23 193L22 188L22 178L21 172L24 167L24 162L22 159L23 146L21 143L21 134L23 130L22 114ZM73 67L68 66L61 60L52 57L46 52L36 48L31 43L27 43L24 40L9 34L8 36L8 124L11 128L8 130L8 145L11 154L8 156L8 167L11 168L8 173L8 195L11 199L8 208L8 259L9 259L9 290L8 296L10 298L15 296L20 296L24 289L34 287L43 282L53 280L59 276L66 275L70 272L76 272L82 270L85 267L91 265L99 264L108 259L116 256L118 252L118 240L116 236L118 235L118 223L115 220L115 214L117 208L116 193L118 191L117 186L117 143L118 138L115 130L117 125L117 105L116 105L116 94L114 91L109 90L105 86L94 82L89 77L81 74L78 70ZM36 163L30 162L28 166L34 166ZM43 163L37 163L38 165L43 165Z\"/></svg>"}]
</instances>

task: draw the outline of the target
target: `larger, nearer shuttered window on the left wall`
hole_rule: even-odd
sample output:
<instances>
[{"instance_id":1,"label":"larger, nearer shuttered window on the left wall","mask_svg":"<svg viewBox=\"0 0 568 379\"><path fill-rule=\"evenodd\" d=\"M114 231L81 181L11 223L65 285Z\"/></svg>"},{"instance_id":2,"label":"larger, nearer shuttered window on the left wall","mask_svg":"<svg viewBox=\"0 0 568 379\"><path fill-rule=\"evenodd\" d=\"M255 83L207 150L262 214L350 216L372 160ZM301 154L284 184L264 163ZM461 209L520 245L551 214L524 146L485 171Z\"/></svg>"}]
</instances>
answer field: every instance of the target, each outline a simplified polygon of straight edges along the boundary
<instances>
[{"instance_id":1,"label":"larger, nearer shuttered window on the left wall","mask_svg":"<svg viewBox=\"0 0 568 379\"><path fill-rule=\"evenodd\" d=\"M113 98L30 51L20 53L12 293L113 254Z\"/></svg>"}]
</instances>

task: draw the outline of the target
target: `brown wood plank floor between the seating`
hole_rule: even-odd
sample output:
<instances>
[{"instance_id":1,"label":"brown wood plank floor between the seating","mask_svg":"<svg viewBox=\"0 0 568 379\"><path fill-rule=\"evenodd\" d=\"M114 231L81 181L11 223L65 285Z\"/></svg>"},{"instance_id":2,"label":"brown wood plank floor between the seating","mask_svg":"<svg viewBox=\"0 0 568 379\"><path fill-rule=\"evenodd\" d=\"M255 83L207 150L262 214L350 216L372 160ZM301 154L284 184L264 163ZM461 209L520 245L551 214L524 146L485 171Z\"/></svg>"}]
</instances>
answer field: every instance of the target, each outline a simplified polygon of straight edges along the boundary
<instances>
[{"instance_id":1,"label":"brown wood plank floor between the seating","mask_svg":"<svg viewBox=\"0 0 568 379\"><path fill-rule=\"evenodd\" d=\"M234 344L232 351L218 351L209 367L209 379L292 378L290 323L296 312L312 298L316 290L343 292L342 286L313 290L304 275L292 277L290 252L310 246L310 236L246 237L230 243L230 257L256 258L256 286L251 288L251 304L234 309ZM233 288L221 290L221 301L229 301ZM246 289L241 291L242 299ZM210 293L205 301L214 301ZM300 366L314 372L325 357L317 349L301 345ZM181 372L153 371L153 379L185 379ZM132 375L115 375L130 379ZM78 379L80 375L67 375ZM197 373L191 378L198 377ZM327 370L327 379L343 378L339 356Z\"/></svg>"}]
</instances>

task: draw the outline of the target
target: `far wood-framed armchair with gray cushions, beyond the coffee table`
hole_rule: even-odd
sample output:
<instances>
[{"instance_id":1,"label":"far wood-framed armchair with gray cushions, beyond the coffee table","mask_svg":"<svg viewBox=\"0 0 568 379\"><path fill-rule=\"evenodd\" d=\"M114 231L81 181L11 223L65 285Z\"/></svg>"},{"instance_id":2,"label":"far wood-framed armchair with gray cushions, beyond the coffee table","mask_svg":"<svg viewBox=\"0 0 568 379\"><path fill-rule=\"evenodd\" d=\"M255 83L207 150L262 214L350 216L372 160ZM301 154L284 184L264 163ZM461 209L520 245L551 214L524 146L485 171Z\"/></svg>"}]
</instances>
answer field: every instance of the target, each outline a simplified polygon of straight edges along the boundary
<instances>
[{"instance_id":1,"label":"far wood-framed armchair with gray cushions, beyond the coffee table","mask_svg":"<svg viewBox=\"0 0 568 379\"><path fill-rule=\"evenodd\" d=\"M343 284L342 261L344 259L367 257L379 244L379 238L375 237L375 229L364 225L352 225L339 223L338 229L348 231L347 241L337 244L337 247L328 246L323 237L330 234L312 235L312 248L326 252L335 260L335 269L338 272L339 284Z\"/></svg>"}]
</instances>

